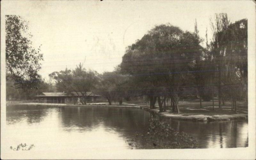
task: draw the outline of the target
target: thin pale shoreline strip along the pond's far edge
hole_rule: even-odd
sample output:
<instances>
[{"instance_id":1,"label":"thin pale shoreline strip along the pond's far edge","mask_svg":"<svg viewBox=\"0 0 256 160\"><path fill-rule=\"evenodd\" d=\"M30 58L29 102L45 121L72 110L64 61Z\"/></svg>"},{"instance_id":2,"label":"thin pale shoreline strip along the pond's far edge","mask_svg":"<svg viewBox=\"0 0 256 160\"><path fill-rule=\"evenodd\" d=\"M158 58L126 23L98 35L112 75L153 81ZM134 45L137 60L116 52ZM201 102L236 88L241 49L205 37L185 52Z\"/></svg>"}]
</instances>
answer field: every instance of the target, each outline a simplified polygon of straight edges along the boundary
<instances>
[{"instance_id":1,"label":"thin pale shoreline strip along the pond's far edge","mask_svg":"<svg viewBox=\"0 0 256 160\"><path fill-rule=\"evenodd\" d=\"M112 107L112 108L140 108L148 112L153 112L161 117L180 120L180 121L191 121L191 122L213 122L213 121L230 121L230 120L247 120L248 114L236 113L232 115L185 115L170 113L167 111L159 113L159 109L149 109L145 106L140 105L99 105L99 104L88 104L88 105L70 105L70 104L47 104L47 103L6 103L6 106L12 105L29 105L29 106L49 106L49 107Z\"/></svg>"}]
</instances>

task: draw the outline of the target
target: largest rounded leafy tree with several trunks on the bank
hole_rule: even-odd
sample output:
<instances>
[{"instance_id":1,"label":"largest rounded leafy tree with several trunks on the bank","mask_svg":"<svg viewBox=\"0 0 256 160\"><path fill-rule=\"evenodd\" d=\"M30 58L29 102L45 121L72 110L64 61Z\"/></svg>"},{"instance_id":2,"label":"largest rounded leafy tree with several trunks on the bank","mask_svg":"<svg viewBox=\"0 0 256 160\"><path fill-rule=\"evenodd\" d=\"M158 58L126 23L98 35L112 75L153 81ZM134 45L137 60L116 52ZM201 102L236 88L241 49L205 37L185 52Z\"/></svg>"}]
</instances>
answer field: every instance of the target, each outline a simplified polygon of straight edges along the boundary
<instances>
[{"instance_id":1,"label":"largest rounded leafy tree with several trunks on the bank","mask_svg":"<svg viewBox=\"0 0 256 160\"><path fill-rule=\"evenodd\" d=\"M190 68L200 57L199 43L194 33L162 24L127 47L121 69L136 77L144 94L149 96L151 108L158 99L162 111L161 96L169 95L179 113L180 87L186 85Z\"/></svg>"}]
</instances>

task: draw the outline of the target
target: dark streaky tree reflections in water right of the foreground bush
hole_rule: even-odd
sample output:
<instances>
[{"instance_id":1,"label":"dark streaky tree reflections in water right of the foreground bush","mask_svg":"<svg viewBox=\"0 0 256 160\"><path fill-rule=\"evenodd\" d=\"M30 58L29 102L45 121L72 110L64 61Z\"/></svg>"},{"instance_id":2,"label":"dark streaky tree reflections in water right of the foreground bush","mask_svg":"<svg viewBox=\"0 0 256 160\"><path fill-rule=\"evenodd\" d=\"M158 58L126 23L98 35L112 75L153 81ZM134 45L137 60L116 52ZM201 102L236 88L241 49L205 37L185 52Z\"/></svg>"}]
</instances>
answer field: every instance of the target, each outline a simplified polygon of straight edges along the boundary
<instances>
[{"instance_id":1,"label":"dark streaky tree reflections in water right of the foreground bush","mask_svg":"<svg viewBox=\"0 0 256 160\"><path fill-rule=\"evenodd\" d=\"M238 121L226 122L187 122L167 120L173 129L196 137L200 148L217 146L219 148L247 147L243 129L247 125Z\"/></svg>"}]
</instances>

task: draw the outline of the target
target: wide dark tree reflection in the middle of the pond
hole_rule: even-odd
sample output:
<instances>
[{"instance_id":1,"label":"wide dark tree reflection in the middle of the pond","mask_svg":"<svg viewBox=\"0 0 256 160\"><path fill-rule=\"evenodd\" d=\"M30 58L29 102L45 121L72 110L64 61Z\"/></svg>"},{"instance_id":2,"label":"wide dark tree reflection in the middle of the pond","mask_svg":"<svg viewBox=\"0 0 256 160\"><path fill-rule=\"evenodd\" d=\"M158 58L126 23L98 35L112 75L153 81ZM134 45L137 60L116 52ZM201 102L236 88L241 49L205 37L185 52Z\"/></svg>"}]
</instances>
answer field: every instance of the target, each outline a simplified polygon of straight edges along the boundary
<instances>
[{"instance_id":1,"label":"wide dark tree reflection in the middle of the pond","mask_svg":"<svg viewBox=\"0 0 256 160\"><path fill-rule=\"evenodd\" d=\"M108 107L63 107L60 114L62 125L66 128L88 130L103 123L109 131L116 130L128 135L145 129L150 117L148 112L139 109Z\"/></svg>"}]
</instances>

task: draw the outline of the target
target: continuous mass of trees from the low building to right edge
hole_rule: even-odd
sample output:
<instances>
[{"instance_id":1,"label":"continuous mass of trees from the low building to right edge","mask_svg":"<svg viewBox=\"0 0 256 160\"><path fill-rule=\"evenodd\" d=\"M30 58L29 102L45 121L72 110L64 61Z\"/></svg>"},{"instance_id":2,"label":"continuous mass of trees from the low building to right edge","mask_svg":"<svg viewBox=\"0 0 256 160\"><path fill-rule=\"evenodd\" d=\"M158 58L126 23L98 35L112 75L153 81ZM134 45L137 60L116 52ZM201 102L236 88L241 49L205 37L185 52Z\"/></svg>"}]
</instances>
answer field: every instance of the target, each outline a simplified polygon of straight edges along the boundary
<instances>
[{"instance_id":1,"label":"continuous mass of trees from the low building to right edge","mask_svg":"<svg viewBox=\"0 0 256 160\"><path fill-rule=\"evenodd\" d=\"M168 100L179 113L180 98L199 99L200 107L202 101L212 101L213 109L214 98L219 108L231 101L236 111L236 101L248 101L247 19L230 23L227 14L215 14L211 30L208 43L207 31L203 41L196 22L194 32L157 25L126 47L122 63L113 72L99 74L80 63L74 70L49 74L49 81L37 86L47 84L44 89L49 91L55 81L57 91L80 92L82 104L86 104L86 94L93 92L110 105L143 95L150 108L157 102L160 112L166 110Z\"/></svg>"}]
</instances>

